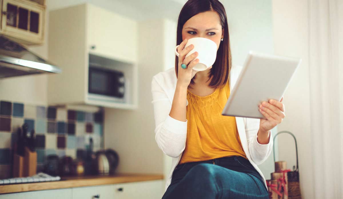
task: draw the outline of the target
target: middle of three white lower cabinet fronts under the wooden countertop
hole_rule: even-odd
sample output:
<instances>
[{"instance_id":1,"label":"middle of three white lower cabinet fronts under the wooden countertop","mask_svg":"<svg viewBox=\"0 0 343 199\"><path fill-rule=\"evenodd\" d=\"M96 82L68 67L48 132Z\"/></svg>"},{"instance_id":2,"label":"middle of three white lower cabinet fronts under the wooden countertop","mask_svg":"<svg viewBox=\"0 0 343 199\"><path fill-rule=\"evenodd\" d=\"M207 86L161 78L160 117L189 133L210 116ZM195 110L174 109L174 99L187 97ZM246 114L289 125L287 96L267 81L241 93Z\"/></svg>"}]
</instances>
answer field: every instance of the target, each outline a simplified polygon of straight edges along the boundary
<instances>
[{"instance_id":1,"label":"middle of three white lower cabinet fronts under the wooden countertop","mask_svg":"<svg viewBox=\"0 0 343 199\"><path fill-rule=\"evenodd\" d=\"M114 199L114 185L73 188L73 199Z\"/></svg>"}]
</instances>

